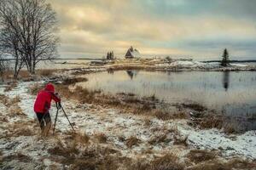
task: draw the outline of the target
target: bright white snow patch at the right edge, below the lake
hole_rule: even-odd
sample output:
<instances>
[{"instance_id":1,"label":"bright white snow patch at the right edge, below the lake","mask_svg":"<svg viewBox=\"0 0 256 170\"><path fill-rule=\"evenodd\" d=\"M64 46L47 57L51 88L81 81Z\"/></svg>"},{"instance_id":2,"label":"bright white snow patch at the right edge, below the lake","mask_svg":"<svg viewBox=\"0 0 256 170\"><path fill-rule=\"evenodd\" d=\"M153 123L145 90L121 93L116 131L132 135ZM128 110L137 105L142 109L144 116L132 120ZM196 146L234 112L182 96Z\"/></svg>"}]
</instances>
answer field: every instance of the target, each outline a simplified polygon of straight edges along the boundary
<instances>
[{"instance_id":1,"label":"bright white snow patch at the right edge, below the lake","mask_svg":"<svg viewBox=\"0 0 256 170\"><path fill-rule=\"evenodd\" d=\"M246 156L256 158L256 132L228 136L218 131L209 130L181 130L183 134L188 134L189 144L202 150L223 150L224 156Z\"/></svg>"}]
</instances>

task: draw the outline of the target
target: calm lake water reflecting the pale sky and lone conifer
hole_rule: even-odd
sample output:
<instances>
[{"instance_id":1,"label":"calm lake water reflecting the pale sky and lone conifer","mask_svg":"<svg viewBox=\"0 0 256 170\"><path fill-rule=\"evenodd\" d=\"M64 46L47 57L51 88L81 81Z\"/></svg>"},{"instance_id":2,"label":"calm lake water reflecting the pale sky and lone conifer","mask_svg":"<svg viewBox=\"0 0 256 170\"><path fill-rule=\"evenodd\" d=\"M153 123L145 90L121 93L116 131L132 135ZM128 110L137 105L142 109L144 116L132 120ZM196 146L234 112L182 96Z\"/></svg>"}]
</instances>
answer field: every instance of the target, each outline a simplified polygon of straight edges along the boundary
<instances>
[{"instance_id":1,"label":"calm lake water reflecting the pale sky and lone conifer","mask_svg":"<svg viewBox=\"0 0 256 170\"><path fill-rule=\"evenodd\" d=\"M105 93L154 94L168 103L192 102L226 116L251 120L256 129L256 71L114 71L86 75L79 85Z\"/></svg>"}]
</instances>

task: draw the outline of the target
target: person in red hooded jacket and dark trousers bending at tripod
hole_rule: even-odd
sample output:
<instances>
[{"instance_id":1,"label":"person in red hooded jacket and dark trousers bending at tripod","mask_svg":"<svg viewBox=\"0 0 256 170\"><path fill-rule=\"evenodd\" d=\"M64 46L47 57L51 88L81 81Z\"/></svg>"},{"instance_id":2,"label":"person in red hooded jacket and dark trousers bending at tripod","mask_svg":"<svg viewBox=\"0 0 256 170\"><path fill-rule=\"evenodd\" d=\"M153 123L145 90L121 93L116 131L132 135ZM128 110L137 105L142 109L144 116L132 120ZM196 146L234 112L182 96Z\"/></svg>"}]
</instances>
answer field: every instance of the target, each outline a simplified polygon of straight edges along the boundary
<instances>
[{"instance_id":1,"label":"person in red hooded jacket and dark trousers bending at tripod","mask_svg":"<svg viewBox=\"0 0 256 170\"><path fill-rule=\"evenodd\" d=\"M34 104L34 111L38 116L38 121L43 132L45 132L45 130L48 132L51 126L49 109L52 99L55 100L55 102L61 102L61 98L58 94L55 94L54 85L48 83L45 88L38 93L38 97Z\"/></svg>"}]
</instances>

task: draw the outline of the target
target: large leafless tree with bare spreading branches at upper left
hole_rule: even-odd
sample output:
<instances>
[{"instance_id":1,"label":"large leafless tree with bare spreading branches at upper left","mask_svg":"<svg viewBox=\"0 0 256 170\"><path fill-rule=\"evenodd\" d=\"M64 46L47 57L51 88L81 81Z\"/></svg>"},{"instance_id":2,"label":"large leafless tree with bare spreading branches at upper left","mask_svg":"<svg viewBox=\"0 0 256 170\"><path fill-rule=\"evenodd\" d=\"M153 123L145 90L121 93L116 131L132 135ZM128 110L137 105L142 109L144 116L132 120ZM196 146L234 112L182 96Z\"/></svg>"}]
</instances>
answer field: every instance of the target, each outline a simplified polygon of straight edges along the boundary
<instances>
[{"instance_id":1,"label":"large leafless tree with bare spreading branches at upper left","mask_svg":"<svg viewBox=\"0 0 256 170\"><path fill-rule=\"evenodd\" d=\"M0 0L0 25L1 46L20 60L17 69L24 64L34 74L38 62L57 56L55 11L45 0Z\"/></svg>"}]
</instances>

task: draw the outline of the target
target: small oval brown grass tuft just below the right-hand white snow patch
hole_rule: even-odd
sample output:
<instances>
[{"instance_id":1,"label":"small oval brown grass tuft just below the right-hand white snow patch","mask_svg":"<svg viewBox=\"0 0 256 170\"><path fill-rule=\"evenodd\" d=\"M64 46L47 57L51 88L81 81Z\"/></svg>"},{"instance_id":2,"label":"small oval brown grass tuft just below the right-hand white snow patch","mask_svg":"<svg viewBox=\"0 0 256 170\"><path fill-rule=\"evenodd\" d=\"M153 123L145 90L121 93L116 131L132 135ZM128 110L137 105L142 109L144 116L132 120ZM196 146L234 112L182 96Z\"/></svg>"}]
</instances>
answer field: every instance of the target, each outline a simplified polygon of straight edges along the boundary
<instances>
[{"instance_id":1,"label":"small oval brown grass tuft just below the right-hand white snow patch","mask_svg":"<svg viewBox=\"0 0 256 170\"><path fill-rule=\"evenodd\" d=\"M209 161L216 158L217 154L208 150L190 150L187 155L190 161L199 163L201 161Z\"/></svg>"}]
</instances>

